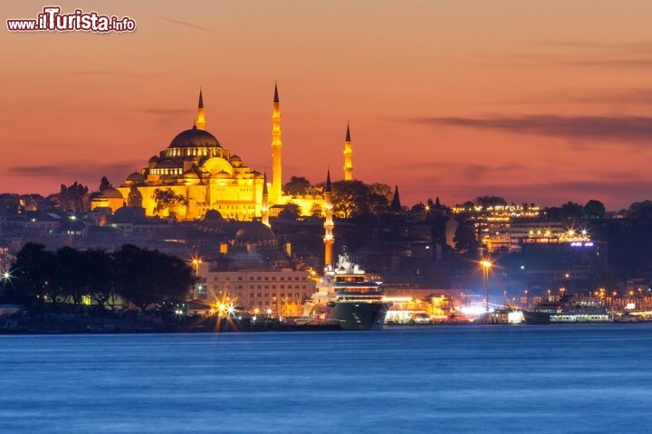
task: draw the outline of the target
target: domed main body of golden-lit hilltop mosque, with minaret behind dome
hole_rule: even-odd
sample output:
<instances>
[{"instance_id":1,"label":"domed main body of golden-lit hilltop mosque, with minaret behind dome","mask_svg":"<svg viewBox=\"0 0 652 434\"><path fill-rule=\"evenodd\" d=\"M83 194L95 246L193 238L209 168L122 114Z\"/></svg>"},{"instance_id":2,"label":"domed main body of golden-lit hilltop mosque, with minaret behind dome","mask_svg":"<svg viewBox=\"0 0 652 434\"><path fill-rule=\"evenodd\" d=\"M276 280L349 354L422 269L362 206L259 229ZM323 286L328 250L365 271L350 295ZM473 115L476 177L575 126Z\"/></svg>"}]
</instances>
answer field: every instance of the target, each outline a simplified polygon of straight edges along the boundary
<instances>
[{"instance_id":1,"label":"domed main body of golden-lit hilltop mosque, with minaret behind dome","mask_svg":"<svg viewBox=\"0 0 652 434\"><path fill-rule=\"evenodd\" d=\"M148 216L174 215L178 220L197 219L209 210L236 220L260 217L264 176L244 165L205 127L200 91L196 125L149 158L148 167L127 177L117 188L124 203L144 208Z\"/></svg>"}]
</instances>

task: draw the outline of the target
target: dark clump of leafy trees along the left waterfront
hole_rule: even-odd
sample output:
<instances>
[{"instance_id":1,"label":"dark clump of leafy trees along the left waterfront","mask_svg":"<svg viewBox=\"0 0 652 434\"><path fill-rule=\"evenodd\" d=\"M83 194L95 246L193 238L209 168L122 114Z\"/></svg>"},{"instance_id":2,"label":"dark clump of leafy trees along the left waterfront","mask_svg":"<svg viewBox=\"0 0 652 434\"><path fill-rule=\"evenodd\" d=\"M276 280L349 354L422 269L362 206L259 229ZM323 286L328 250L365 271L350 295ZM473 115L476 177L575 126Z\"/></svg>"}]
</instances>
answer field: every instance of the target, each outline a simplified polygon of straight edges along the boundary
<instances>
[{"instance_id":1,"label":"dark clump of leafy trees along the left waterfront","mask_svg":"<svg viewBox=\"0 0 652 434\"><path fill-rule=\"evenodd\" d=\"M4 302L31 311L65 305L114 309L122 300L145 310L165 300L187 297L195 283L183 259L131 244L120 250L52 251L28 242L3 279Z\"/></svg>"}]
</instances>

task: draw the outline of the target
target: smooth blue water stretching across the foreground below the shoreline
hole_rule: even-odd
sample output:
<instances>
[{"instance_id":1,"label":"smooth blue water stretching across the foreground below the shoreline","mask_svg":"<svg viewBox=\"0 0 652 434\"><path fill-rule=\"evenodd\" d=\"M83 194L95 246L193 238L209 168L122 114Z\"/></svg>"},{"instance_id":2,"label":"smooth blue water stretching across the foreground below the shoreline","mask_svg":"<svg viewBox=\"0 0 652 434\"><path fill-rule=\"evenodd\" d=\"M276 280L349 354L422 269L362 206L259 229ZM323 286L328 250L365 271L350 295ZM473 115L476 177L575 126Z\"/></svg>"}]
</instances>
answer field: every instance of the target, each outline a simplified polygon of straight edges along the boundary
<instances>
[{"instance_id":1,"label":"smooth blue water stretching across the foreground below the shoreline","mask_svg":"<svg viewBox=\"0 0 652 434\"><path fill-rule=\"evenodd\" d=\"M4 433L652 432L652 324L0 336Z\"/></svg>"}]
</instances>

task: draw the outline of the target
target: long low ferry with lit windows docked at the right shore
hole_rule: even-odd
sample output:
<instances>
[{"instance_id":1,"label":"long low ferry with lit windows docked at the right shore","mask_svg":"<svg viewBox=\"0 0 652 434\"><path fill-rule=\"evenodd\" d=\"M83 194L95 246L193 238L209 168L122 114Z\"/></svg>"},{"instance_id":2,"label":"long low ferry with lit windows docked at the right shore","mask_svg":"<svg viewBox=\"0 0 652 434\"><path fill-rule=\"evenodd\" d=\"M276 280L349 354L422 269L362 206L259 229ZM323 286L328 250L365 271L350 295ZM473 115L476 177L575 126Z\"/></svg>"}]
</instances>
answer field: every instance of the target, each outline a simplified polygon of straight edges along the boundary
<instances>
[{"instance_id":1,"label":"long low ferry with lit windows docked at the right shore","mask_svg":"<svg viewBox=\"0 0 652 434\"><path fill-rule=\"evenodd\" d=\"M614 318L607 307L593 299L565 295L559 300L539 303L523 310L525 324L611 323Z\"/></svg>"}]
</instances>

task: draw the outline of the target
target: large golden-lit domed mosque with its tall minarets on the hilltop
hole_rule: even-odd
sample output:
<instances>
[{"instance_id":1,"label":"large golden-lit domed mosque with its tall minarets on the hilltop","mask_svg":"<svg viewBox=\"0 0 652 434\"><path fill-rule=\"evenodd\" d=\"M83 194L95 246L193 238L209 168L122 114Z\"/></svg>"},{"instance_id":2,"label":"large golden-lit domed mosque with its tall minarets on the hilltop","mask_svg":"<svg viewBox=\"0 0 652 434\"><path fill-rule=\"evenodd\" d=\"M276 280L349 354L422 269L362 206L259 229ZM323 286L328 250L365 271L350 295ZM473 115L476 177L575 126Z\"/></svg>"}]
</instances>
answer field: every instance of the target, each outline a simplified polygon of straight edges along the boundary
<instances>
[{"instance_id":1,"label":"large golden-lit domed mosque with its tall minarets on the hilltop","mask_svg":"<svg viewBox=\"0 0 652 434\"><path fill-rule=\"evenodd\" d=\"M206 131L204 100L199 91L197 118L191 129L177 134L169 146L149 158L147 167L134 172L117 188L97 194L91 208L141 207L147 216L196 220L215 210L238 221L261 219L269 226L273 205L294 203L302 215L324 214L324 193L292 196L283 193L281 109L274 86L272 113L272 181L245 165ZM347 126L344 144L344 180L352 180L352 147ZM278 209L278 207L275 207Z\"/></svg>"}]
</instances>

